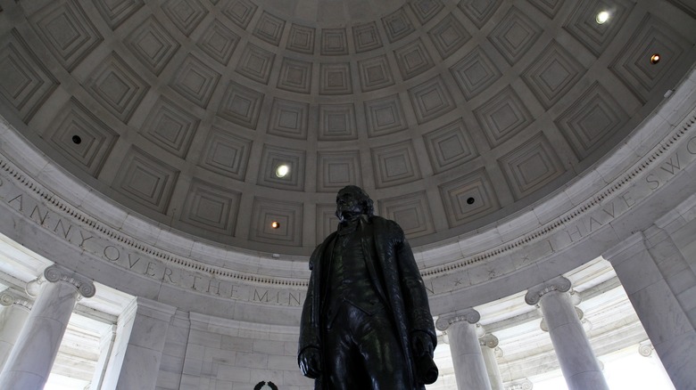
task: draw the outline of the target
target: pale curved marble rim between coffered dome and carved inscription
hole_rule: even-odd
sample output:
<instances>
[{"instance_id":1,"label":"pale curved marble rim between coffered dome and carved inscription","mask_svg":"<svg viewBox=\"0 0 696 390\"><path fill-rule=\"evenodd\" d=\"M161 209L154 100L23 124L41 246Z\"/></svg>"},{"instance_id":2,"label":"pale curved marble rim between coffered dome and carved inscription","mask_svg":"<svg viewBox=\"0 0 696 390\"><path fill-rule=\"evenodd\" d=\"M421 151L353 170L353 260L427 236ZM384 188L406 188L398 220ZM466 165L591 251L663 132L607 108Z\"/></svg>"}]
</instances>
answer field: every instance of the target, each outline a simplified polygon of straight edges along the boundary
<instances>
[{"instance_id":1,"label":"pale curved marble rim between coffered dome and carved inscription","mask_svg":"<svg viewBox=\"0 0 696 390\"><path fill-rule=\"evenodd\" d=\"M479 261L482 261L485 260L485 258L494 258L495 256L501 254L504 255L508 251L517 250L517 248L523 247L524 244L530 241L539 240L539 237L543 237L543 234L546 233L546 228L544 226L552 226L556 224L557 222L554 222L554 220L559 221L560 219L564 218L564 215L567 217L567 215L573 212L574 209L580 209L584 212L584 209L591 209L593 205L598 205L601 203L601 199L609 199L606 191L612 187L616 188L616 183L622 183L623 185L623 183L630 183L631 181L637 180L637 178L641 178L642 175L638 175L637 173L645 171L646 167L655 167L655 165L661 162L661 159L656 156L659 156L660 154L663 156L663 158L667 156L667 154L664 153L664 150L667 150L665 149L665 145L673 146L679 144L678 142L675 142L676 138L671 134L680 131L680 129L675 126L680 120L683 119L683 116L685 115L684 110L688 107L692 107L694 104L693 101L696 99L696 95L689 94L694 88L694 80L696 80L696 70L692 70L689 77L685 78L683 83L676 88L675 93L672 93L672 95L660 105L659 109L655 110L654 114L651 116L653 120L643 123L643 125L636 129L634 134L632 134L632 136L626 140L626 143L622 147L624 149L623 151L621 148L618 148L615 155L607 156L601 163L598 163L598 167L596 167L592 172L603 170L605 173L612 173L613 170L613 176L601 176L608 182L606 185L601 186L597 191L587 193L588 186L586 183L584 183L584 180L590 180L592 177L585 176L584 178L578 178L575 183L569 184L568 188L564 189L564 191L559 191L559 193L555 194L555 199L557 200L551 199L552 197L547 197L544 199L543 203L551 203L557 206L557 212L554 213L556 215L555 218L549 218L550 222L545 223L538 228L519 232L518 236L510 236L509 232L503 232L500 229L506 225L509 227L529 226L529 218L536 217L534 214L534 206L529 207L524 213L513 215L507 220L502 220L499 225L491 226L485 231L460 236L459 240L454 240L453 242L450 240L449 244L447 241L441 241L436 248L433 248L434 245L432 244L424 247L414 248L414 251L418 256L421 269L424 271L424 276L427 276L428 278L435 278L449 272L453 272L468 265L468 261L470 261L472 256L476 257L480 254L485 254L479 259ZM662 126L659 126L657 129L655 128L655 121L657 120L655 118L664 120L664 122L661 124ZM75 185L79 185L79 179L75 179L69 173L64 172L62 167L52 166L51 161L47 159L46 156L44 156L39 150L37 150L33 144L24 142L21 139L21 136L16 133L16 130L14 130L12 126L9 126L9 124L6 124L6 122L4 126L8 126L4 128L3 131L4 139L6 141L3 145L4 153L10 155L9 158L11 161L14 161L14 163L19 167L23 167L29 172L32 172L35 176L35 180L40 181L40 185L46 187L49 192L53 192L55 194L54 199L57 199L56 201L62 201L66 205L75 207L80 212L86 213L89 218L94 218L94 221L97 223L104 223L103 220L105 219L113 219L113 215L94 215L95 212L103 211L109 207L120 210L120 214L124 215L126 218L137 218L137 216L130 214L128 209L120 208L120 206L118 204L114 204L112 200L104 198L99 193L92 192L87 187L83 187L81 191L82 194L76 197L78 192L75 191ZM684 127L684 131L686 129L687 128ZM682 142L684 142L684 139ZM635 152L635 150L643 150L645 154L639 155ZM659 153L657 153L655 150L658 150ZM602 167L602 164L604 167ZM50 167L47 175L44 172L46 167ZM625 167L625 169L616 170L614 169L615 167ZM575 186L575 189L573 186ZM613 196L616 197L620 191L612 190L610 193L611 192L613 192ZM568 199L568 193L584 194L581 198L584 199L584 201L578 202L577 204L572 204L572 202L570 202L571 204L566 205L569 207L560 206L563 205L564 202L559 200ZM80 198L80 196L82 198ZM75 205L72 202L64 200L66 197L72 197L72 199L78 198L79 203L84 204ZM85 203L84 200L86 199L89 199L90 201ZM86 211L86 206L91 207L91 210ZM108 223L106 224L108 225ZM562 224L563 223L559 223L559 225ZM133 228L137 229L137 231L128 231L128 229ZM172 255L183 257L191 262L187 266L192 266L196 269L215 270L216 268L220 267L222 272L235 272L236 268L245 268L249 265L260 266L258 262L260 258L264 259L264 261L261 263L266 264L268 269L288 269L288 260L286 259L287 256L280 256L280 259L277 260L274 259L271 254L264 255L258 252L253 254L252 252L244 249L221 247L215 243L203 243L200 240L193 240L193 238L188 237L186 233L162 230L162 227L153 225L152 221L146 219L138 219L137 221L130 223L121 223L120 228L111 227L111 229L113 229L113 232L117 232L117 234L119 232L124 234L126 237L124 240L129 241L131 246L134 248L153 248L151 250L161 251L162 254L165 254L165 257ZM168 241L162 241L159 243L154 241L153 243L140 240L147 234L152 235L153 232L158 231L160 234L166 233ZM549 232L551 231L552 229L549 230ZM510 239L501 242L501 238L505 237L506 235L509 236ZM155 236L159 237L159 234L155 234ZM134 239L134 237L138 237L138 239ZM176 245L172 244L175 241L187 241L190 243L190 245L183 246L180 243ZM177 253L172 250L173 247L187 248L188 252ZM453 252L456 253L457 256L455 256L451 263L438 264L438 256L442 254L443 249L449 250L446 249L447 247L453 248ZM468 248L469 253L462 248ZM197 255L195 254L196 251L198 252ZM224 254L225 257L218 259L220 260L219 264L205 263L203 259L211 259L211 254L213 253ZM196 258L198 258L198 260L196 260ZM289 260L290 264L306 264L306 257L303 256L294 256ZM228 263L229 261L232 263ZM244 261L244 263L238 263L239 261ZM237 264L236 267L235 264ZM305 278L309 272L302 270L302 266L293 268L293 265L291 265L290 268L298 274L296 279L269 277L268 273L272 274L273 272L263 272L262 268L258 269L258 273L249 274L247 276L244 276L244 272L241 272L238 274L237 278L244 279L248 277L250 281L260 283L267 283L269 280L272 280L271 284L279 286L302 286L303 283L306 282Z\"/></svg>"}]
</instances>

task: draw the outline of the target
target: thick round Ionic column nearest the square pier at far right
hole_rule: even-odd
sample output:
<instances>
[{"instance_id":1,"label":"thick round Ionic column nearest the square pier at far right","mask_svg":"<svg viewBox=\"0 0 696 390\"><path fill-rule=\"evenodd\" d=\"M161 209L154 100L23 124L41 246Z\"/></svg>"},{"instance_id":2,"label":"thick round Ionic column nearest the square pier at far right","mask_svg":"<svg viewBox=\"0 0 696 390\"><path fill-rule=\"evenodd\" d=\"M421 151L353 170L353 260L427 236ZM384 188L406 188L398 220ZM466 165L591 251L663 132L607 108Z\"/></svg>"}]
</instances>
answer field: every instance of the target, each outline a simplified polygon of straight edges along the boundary
<instances>
[{"instance_id":1,"label":"thick round Ionic column nearest the square pier at far right","mask_svg":"<svg viewBox=\"0 0 696 390\"><path fill-rule=\"evenodd\" d=\"M569 390L609 390L592 347L577 317L568 290L570 280L559 276L529 288L525 301L541 306L543 321L559 358L560 370Z\"/></svg>"}]
</instances>

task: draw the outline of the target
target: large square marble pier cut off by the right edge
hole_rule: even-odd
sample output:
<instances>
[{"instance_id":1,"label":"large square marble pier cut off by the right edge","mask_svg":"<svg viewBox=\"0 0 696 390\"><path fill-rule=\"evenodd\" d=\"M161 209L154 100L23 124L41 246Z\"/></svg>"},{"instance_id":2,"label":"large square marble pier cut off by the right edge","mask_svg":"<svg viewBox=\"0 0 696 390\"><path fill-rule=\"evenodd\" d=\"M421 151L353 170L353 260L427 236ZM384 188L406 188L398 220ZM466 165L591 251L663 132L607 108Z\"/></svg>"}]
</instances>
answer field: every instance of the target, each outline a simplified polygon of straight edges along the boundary
<instances>
[{"instance_id":1,"label":"large square marble pier cut off by the right edge","mask_svg":"<svg viewBox=\"0 0 696 390\"><path fill-rule=\"evenodd\" d=\"M693 240L693 236L684 238ZM696 266L674 240L653 226L602 255L641 320L677 389L696 388Z\"/></svg>"}]
</instances>

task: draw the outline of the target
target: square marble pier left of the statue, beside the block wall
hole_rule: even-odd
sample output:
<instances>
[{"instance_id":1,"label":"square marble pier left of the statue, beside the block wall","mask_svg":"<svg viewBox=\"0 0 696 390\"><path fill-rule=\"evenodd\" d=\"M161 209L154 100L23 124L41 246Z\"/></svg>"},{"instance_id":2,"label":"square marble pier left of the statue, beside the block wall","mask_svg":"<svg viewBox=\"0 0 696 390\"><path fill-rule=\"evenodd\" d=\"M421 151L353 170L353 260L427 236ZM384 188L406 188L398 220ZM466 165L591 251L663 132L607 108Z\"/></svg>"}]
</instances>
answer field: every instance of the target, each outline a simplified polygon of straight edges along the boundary
<instances>
[{"instance_id":1,"label":"square marble pier left of the statue, beside the block wall","mask_svg":"<svg viewBox=\"0 0 696 390\"><path fill-rule=\"evenodd\" d=\"M176 310L137 297L121 313L102 389L154 390L171 316Z\"/></svg>"}]
</instances>

